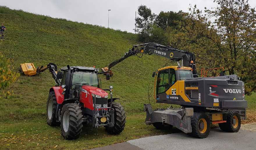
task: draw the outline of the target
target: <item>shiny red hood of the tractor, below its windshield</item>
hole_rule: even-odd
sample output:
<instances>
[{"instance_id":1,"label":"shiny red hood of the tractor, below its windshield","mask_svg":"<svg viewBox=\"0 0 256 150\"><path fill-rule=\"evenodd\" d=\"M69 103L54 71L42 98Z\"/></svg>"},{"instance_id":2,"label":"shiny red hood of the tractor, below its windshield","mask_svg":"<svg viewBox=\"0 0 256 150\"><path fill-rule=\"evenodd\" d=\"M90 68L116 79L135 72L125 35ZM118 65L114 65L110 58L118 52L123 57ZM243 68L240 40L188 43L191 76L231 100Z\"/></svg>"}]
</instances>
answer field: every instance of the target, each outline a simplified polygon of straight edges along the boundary
<instances>
[{"instance_id":1,"label":"shiny red hood of the tractor, below its windshield","mask_svg":"<svg viewBox=\"0 0 256 150\"><path fill-rule=\"evenodd\" d=\"M84 104L85 108L88 108L90 110L93 110L92 93L95 95L99 95L102 98L104 98L104 96L108 95L107 92L105 92L104 90L102 90L100 88L83 85L81 88L81 92L80 92L80 102ZM106 103L107 103L107 99L106 99Z\"/></svg>"}]
</instances>

